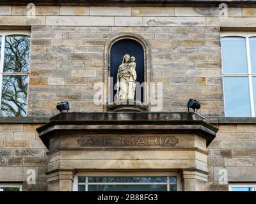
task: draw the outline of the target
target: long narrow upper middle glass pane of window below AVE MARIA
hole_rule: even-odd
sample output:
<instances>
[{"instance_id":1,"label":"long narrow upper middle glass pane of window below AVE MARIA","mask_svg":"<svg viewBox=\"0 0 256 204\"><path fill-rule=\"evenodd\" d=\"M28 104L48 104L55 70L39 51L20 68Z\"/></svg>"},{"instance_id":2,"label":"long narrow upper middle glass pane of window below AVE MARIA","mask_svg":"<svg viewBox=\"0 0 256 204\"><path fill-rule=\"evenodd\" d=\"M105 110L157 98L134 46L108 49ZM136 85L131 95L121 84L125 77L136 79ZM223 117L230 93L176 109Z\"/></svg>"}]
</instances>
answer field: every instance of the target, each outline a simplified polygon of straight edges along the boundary
<instances>
[{"instance_id":1,"label":"long narrow upper middle glass pane of window below AVE MARIA","mask_svg":"<svg viewBox=\"0 0 256 204\"><path fill-rule=\"evenodd\" d=\"M88 177L90 183L166 183L166 177Z\"/></svg>"}]
</instances>

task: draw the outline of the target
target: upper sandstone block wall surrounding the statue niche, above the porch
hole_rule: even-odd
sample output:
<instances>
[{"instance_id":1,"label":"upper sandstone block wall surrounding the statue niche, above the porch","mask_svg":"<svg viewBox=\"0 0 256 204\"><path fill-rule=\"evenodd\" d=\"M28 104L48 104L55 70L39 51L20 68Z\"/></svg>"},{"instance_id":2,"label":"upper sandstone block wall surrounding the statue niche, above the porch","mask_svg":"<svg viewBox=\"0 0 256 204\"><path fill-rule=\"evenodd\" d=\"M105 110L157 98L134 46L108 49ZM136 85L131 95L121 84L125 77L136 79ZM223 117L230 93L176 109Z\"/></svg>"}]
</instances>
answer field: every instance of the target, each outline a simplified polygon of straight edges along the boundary
<instances>
[{"instance_id":1,"label":"upper sandstone block wall surrounding the statue niche, above the porch","mask_svg":"<svg viewBox=\"0 0 256 204\"><path fill-rule=\"evenodd\" d=\"M104 82L104 45L119 33L140 35L150 45L150 82L163 83L162 111L184 111L189 98L200 113L223 116L220 27L253 27L255 8L0 6L0 26L31 27L29 116L51 116L56 103L72 111L102 112L93 97ZM28 28L28 27L27 27Z\"/></svg>"}]
</instances>

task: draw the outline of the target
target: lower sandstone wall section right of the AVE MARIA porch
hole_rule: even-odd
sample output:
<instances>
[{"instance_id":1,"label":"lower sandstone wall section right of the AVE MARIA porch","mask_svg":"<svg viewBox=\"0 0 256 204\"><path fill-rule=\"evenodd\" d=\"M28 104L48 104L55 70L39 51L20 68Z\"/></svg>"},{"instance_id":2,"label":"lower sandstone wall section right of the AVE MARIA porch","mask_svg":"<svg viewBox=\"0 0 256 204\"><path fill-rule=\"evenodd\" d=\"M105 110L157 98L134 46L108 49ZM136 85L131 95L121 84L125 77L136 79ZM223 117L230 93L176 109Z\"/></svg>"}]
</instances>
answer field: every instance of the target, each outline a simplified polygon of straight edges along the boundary
<instances>
[{"instance_id":1,"label":"lower sandstone wall section right of the AVE MARIA porch","mask_svg":"<svg viewBox=\"0 0 256 204\"><path fill-rule=\"evenodd\" d=\"M228 191L227 184L219 183L223 169L227 170L230 183L255 183L255 124L219 125L218 128L216 138L208 147L209 191Z\"/></svg>"}]
</instances>

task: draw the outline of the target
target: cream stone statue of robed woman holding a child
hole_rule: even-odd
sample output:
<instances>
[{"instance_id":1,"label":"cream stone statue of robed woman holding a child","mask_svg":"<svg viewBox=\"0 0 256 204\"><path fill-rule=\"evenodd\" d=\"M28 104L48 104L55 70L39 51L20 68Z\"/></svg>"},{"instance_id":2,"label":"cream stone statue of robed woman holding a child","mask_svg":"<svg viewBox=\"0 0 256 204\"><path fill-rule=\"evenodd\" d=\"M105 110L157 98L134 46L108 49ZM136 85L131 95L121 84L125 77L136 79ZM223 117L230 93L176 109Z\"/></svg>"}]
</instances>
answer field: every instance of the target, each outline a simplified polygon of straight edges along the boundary
<instances>
[{"instance_id":1,"label":"cream stone statue of robed woman holding a child","mask_svg":"<svg viewBox=\"0 0 256 204\"><path fill-rule=\"evenodd\" d=\"M117 100L134 100L137 79L135 60L135 57L125 54L122 64L118 68L116 78Z\"/></svg>"}]
</instances>

